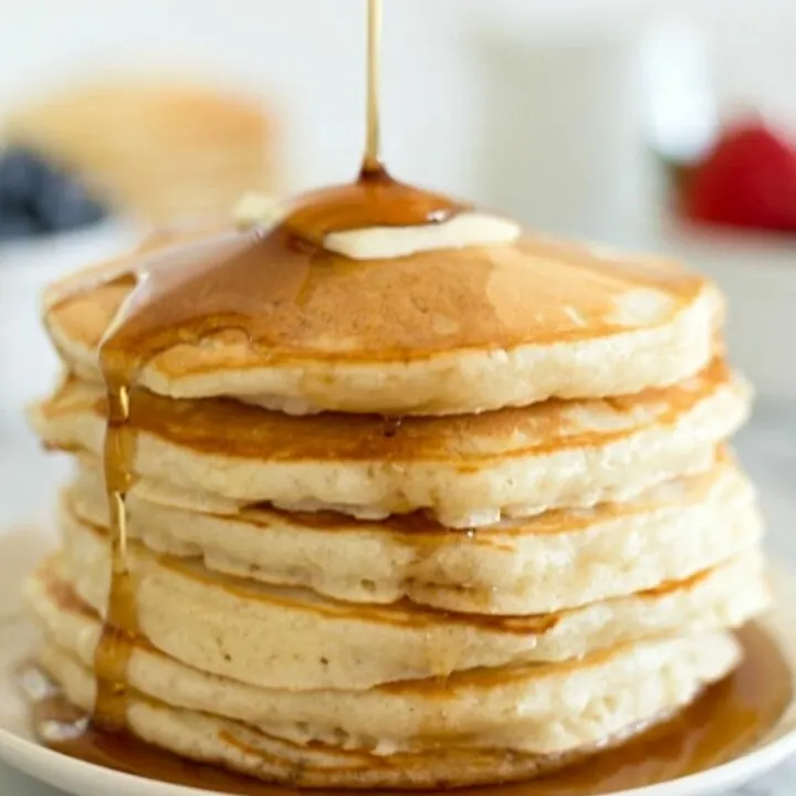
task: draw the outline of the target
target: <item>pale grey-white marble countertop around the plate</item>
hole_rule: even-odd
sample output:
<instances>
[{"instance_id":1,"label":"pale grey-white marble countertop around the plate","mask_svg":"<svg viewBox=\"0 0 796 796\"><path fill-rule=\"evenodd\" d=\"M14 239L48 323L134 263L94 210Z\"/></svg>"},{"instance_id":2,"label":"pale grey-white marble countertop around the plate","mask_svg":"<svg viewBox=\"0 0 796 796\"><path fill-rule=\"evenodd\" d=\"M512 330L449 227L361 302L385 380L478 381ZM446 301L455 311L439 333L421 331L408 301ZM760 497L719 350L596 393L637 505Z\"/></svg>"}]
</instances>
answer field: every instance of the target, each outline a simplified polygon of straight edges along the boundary
<instances>
[{"instance_id":1,"label":"pale grey-white marble countertop around the plate","mask_svg":"<svg viewBox=\"0 0 796 796\"><path fill-rule=\"evenodd\" d=\"M761 491L768 521L768 549L778 562L796 568L796 401L761 401L737 448ZM3 428L0 416L0 533L3 527L45 522L54 483L64 462L45 459L19 427ZM0 763L1 796L64 796ZM796 758L768 776L726 796L795 796Z\"/></svg>"}]
</instances>

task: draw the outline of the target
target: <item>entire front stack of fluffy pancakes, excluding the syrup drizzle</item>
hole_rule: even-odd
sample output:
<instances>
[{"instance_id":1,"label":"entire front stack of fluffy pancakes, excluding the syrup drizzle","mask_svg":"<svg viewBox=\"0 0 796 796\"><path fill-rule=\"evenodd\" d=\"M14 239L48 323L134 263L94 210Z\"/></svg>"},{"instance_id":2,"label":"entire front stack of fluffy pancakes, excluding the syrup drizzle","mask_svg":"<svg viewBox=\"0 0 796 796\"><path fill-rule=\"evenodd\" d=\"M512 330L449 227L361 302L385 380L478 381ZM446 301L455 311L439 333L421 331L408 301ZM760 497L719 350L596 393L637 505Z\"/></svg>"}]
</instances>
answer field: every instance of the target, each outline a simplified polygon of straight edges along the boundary
<instances>
[{"instance_id":1,"label":"entire front stack of fluffy pancakes, excluding the syrup drizzle","mask_svg":"<svg viewBox=\"0 0 796 796\"><path fill-rule=\"evenodd\" d=\"M85 710L111 570L97 348L137 262L52 289L69 375L32 411L77 471L29 596ZM129 730L268 781L458 786L692 702L768 599L723 447L750 392L722 313L677 264L525 238L318 269L263 307L268 346L154 356L130 409Z\"/></svg>"}]
</instances>

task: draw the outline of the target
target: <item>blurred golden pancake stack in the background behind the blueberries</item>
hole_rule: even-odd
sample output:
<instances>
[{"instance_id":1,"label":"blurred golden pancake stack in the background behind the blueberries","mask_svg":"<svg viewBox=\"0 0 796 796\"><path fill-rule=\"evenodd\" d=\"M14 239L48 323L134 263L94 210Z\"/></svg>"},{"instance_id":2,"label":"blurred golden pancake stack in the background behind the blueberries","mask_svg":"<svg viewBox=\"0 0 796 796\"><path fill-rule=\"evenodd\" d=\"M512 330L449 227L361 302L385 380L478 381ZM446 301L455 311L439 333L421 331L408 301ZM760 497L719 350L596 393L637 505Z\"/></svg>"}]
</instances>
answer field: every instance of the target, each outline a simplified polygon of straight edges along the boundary
<instances>
[{"instance_id":1,"label":"blurred golden pancake stack in the background behind the blueberries","mask_svg":"<svg viewBox=\"0 0 796 796\"><path fill-rule=\"evenodd\" d=\"M226 214L274 187L263 103L210 86L112 82L28 105L0 140L57 165L117 212L155 224Z\"/></svg>"}]
</instances>

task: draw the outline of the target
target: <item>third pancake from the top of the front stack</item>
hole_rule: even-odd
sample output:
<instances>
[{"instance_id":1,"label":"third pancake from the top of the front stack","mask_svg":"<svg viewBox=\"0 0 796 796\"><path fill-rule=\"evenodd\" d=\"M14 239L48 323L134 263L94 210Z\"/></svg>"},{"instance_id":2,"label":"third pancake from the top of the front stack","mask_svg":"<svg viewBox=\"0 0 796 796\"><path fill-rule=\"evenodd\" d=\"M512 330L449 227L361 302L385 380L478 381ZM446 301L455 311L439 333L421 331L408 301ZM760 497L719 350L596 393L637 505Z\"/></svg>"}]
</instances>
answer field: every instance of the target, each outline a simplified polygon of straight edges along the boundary
<instances>
[{"instance_id":1,"label":"third pancake from the top of the front stack","mask_svg":"<svg viewBox=\"0 0 796 796\"><path fill-rule=\"evenodd\" d=\"M83 522L107 525L98 461L81 458L64 500ZM201 494L146 479L126 505L132 538L227 575L352 603L407 598L503 615L544 614L684 579L752 547L762 532L754 492L726 455L626 503L504 520L478 533L419 513L381 523L265 506L224 514Z\"/></svg>"}]
</instances>

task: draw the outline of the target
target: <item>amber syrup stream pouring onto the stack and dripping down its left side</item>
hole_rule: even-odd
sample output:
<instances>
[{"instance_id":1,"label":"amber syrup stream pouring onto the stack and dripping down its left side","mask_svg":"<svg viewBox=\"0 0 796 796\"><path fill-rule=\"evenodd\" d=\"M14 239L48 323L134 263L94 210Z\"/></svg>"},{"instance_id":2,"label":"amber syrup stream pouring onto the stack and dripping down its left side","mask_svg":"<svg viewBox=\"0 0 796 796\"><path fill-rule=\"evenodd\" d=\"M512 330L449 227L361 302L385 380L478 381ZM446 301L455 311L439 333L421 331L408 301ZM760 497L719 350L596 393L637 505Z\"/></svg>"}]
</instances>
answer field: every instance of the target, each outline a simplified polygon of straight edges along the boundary
<instances>
[{"instance_id":1,"label":"amber syrup stream pouring onto the stack and dripping down its left side","mask_svg":"<svg viewBox=\"0 0 796 796\"><path fill-rule=\"evenodd\" d=\"M359 178L313 191L269 230L253 230L145 256L136 287L100 347L107 394L104 469L112 540L108 607L95 652L97 698L93 721L124 730L130 637L139 632L135 572L127 555L126 499L135 472L136 379L159 352L186 341L242 332L262 342L258 318L284 302L302 302L313 272L345 266L329 258L325 237L368 227L411 227L446 221L464 209L438 193L394 180L380 160L379 55L381 0L368 0L367 135ZM388 421L395 433L398 421Z\"/></svg>"}]
</instances>

